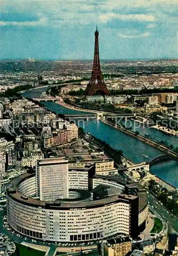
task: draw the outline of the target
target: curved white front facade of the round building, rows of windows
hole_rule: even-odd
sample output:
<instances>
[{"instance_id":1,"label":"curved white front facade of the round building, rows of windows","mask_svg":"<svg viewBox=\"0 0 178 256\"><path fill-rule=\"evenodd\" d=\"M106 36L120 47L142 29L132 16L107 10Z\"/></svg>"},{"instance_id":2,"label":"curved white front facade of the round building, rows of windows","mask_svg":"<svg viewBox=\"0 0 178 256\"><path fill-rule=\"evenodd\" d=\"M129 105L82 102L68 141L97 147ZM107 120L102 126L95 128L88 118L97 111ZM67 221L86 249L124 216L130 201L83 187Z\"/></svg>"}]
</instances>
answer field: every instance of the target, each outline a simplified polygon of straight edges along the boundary
<instances>
[{"instance_id":1,"label":"curved white front facade of the round building, rows of windows","mask_svg":"<svg viewBox=\"0 0 178 256\"><path fill-rule=\"evenodd\" d=\"M86 241L130 234L130 205L111 203L91 209L52 210L26 206L7 199L11 227L27 236L47 241ZM25 211L24 211L25 209Z\"/></svg>"}]
</instances>

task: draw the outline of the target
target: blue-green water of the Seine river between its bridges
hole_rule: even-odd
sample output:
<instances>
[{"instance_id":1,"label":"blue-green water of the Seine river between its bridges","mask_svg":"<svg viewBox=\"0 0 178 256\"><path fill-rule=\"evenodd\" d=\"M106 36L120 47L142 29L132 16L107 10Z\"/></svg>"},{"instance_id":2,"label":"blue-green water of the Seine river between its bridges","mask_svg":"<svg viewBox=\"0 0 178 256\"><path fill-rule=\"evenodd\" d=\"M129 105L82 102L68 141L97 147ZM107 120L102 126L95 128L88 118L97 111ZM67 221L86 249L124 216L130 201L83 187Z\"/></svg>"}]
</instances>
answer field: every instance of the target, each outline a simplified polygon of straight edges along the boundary
<instances>
[{"instance_id":1,"label":"blue-green water of the Seine river between its bridges","mask_svg":"<svg viewBox=\"0 0 178 256\"><path fill-rule=\"evenodd\" d=\"M31 91L30 93L23 94L28 97L37 97L37 91ZM53 110L56 113L61 113L64 115L67 114L81 114L85 112L80 112L77 110L70 110L61 106L55 102L42 102L47 109ZM134 130L134 121L133 122L133 130ZM135 163L140 163L143 161L150 161L158 156L165 155L163 152L156 150L156 148L151 147L129 135L126 135L120 131L117 131L113 127L110 127L107 124L104 124L100 121L96 121L94 119L89 120L76 120L76 124L82 126L85 132L88 132L95 137L106 141L113 148L120 149L123 151L124 156L128 157ZM172 144L173 146L178 146L178 138L174 136L166 135L156 129L152 129L149 127L136 127L135 130L139 131L141 135L144 133L148 133L151 136L151 139L158 141L167 141L168 144ZM142 156L142 154L147 155L149 158L146 159ZM167 181L173 186L178 188L178 162L177 161L169 161L163 164L157 164L151 167L151 173L157 175L161 179Z\"/></svg>"}]
</instances>

